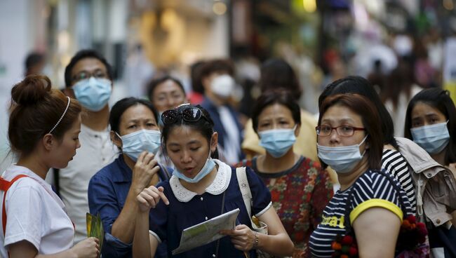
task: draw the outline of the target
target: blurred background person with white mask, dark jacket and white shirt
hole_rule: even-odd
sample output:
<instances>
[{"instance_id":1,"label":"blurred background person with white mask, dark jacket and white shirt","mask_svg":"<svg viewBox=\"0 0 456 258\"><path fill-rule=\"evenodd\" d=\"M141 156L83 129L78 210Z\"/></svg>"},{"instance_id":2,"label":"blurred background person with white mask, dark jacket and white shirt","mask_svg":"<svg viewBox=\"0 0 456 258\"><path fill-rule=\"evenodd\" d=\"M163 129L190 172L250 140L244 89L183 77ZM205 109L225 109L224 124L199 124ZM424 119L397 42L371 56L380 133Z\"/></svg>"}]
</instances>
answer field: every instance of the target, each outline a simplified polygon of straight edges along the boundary
<instances>
[{"instance_id":1,"label":"blurred background person with white mask, dark jacket and white shirt","mask_svg":"<svg viewBox=\"0 0 456 258\"><path fill-rule=\"evenodd\" d=\"M213 118L214 130L219 134L219 146L227 163L236 163L243 158L239 113L230 104L236 87L233 75L234 68L229 60L211 60L201 67L201 83L204 88L201 106Z\"/></svg>"}]
</instances>

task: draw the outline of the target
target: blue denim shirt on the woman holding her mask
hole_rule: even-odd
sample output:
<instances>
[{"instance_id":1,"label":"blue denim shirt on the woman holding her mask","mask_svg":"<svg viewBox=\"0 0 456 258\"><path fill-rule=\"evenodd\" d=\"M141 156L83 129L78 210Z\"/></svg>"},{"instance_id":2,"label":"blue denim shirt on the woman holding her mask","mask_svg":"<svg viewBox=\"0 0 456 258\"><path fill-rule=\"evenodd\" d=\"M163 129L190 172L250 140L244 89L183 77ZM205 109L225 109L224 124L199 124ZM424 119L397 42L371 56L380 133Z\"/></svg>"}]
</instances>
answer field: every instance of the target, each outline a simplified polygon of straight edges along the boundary
<instances>
[{"instance_id":1,"label":"blue denim shirt on the woman holding her mask","mask_svg":"<svg viewBox=\"0 0 456 258\"><path fill-rule=\"evenodd\" d=\"M170 178L170 169L160 165L160 181ZM102 247L103 257L132 257L132 243L123 243L111 235L112 224L119 217L130 190L133 172L119 155L115 161L98 171L88 184L88 205L90 213L100 213L105 240ZM152 219L149 215L149 220ZM166 243L159 245L155 257L166 256Z\"/></svg>"}]
</instances>

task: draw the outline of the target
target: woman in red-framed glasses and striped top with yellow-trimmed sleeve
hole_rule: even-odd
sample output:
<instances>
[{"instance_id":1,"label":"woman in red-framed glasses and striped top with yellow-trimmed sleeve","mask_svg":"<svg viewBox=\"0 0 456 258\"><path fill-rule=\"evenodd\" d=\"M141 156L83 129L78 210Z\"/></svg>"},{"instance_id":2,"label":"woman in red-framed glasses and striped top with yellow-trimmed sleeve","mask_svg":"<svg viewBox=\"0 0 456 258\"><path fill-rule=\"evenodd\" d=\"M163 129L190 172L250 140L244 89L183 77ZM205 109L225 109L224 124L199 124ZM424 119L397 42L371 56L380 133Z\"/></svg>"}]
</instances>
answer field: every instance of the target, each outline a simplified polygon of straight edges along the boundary
<instances>
[{"instance_id":1,"label":"woman in red-framed glasses and striped top with yellow-trimmed sleeve","mask_svg":"<svg viewBox=\"0 0 456 258\"><path fill-rule=\"evenodd\" d=\"M340 190L311 234L311 254L332 257L336 236L352 229L359 257L394 257L403 212L410 215L411 207L396 179L379 171L383 143L375 107L361 95L327 97L316 133L318 157L337 172Z\"/></svg>"}]
</instances>

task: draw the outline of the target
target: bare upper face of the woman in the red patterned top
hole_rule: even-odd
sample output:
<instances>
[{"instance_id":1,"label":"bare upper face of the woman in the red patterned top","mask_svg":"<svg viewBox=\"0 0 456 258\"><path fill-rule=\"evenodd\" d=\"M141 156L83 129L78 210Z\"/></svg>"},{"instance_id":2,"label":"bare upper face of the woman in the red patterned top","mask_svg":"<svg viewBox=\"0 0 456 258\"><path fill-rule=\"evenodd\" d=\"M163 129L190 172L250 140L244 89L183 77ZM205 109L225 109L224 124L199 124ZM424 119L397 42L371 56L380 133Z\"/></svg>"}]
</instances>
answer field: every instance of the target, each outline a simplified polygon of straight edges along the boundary
<instances>
[{"instance_id":1,"label":"bare upper face of the woman in the red patterned top","mask_svg":"<svg viewBox=\"0 0 456 258\"><path fill-rule=\"evenodd\" d=\"M271 104L261 111L258 116L257 132L273 129L290 129L295 127L290 109L283 104ZM299 130L297 130L299 132ZM297 135L296 135L297 136Z\"/></svg>"}]
</instances>

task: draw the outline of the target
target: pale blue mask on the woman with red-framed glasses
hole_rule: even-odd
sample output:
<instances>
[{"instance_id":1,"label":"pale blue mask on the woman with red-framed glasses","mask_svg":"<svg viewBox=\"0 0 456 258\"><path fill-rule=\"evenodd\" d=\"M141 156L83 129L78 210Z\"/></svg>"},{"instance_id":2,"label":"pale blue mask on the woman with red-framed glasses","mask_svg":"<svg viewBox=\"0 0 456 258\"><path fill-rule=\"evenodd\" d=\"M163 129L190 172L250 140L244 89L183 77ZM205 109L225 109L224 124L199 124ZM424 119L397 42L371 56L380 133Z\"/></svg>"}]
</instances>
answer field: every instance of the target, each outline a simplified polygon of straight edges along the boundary
<instances>
[{"instance_id":1,"label":"pale blue mask on the woman with red-framed glasses","mask_svg":"<svg viewBox=\"0 0 456 258\"><path fill-rule=\"evenodd\" d=\"M321 158L321 161L330 165L337 173L351 172L361 159L363 159L363 156L366 153L365 149L363 154L361 154L359 147L366 141L367 137L368 136L366 135L360 144L350 146L326 147L316 144L318 158Z\"/></svg>"}]
</instances>

